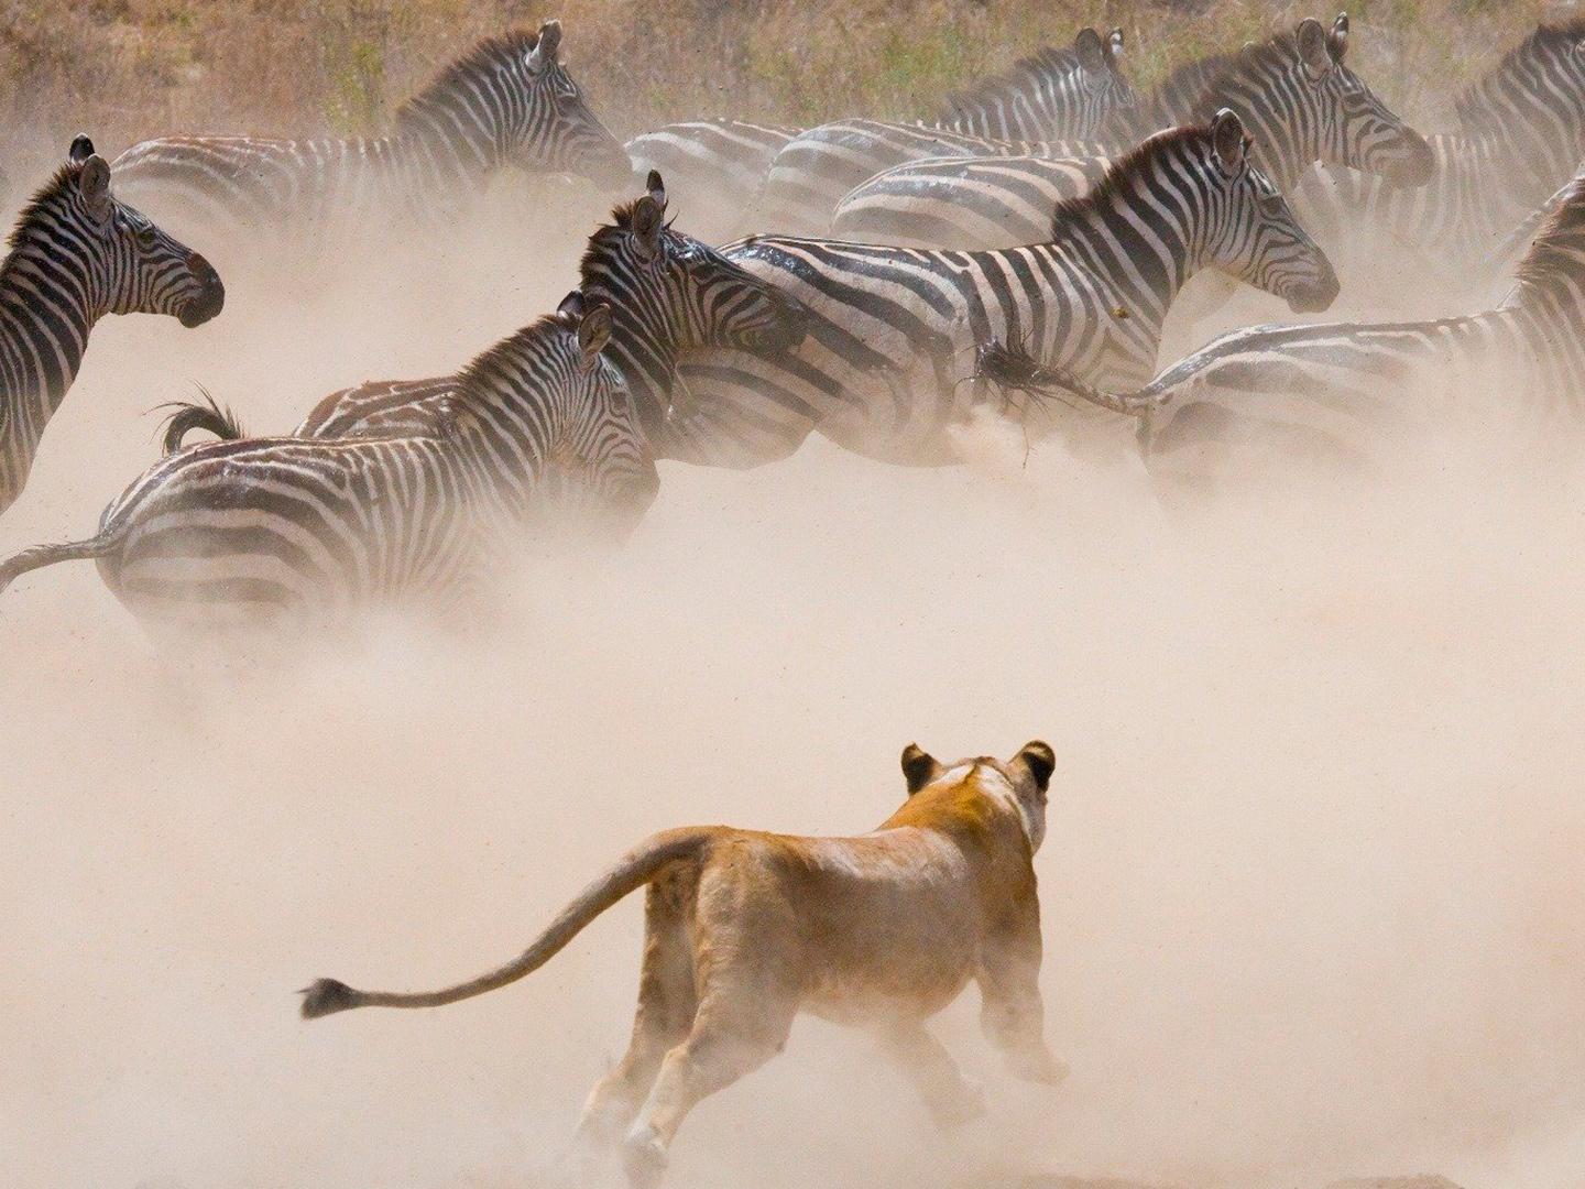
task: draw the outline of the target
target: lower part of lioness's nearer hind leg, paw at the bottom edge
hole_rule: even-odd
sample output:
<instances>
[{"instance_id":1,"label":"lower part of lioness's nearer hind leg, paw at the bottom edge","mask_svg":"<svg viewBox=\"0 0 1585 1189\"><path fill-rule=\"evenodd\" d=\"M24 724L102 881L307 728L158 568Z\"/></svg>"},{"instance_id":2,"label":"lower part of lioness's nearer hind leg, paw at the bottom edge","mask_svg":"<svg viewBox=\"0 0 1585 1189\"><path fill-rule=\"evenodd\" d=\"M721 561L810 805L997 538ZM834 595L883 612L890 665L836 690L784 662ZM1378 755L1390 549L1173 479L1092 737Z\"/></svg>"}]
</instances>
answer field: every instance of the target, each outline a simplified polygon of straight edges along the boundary
<instances>
[{"instance_id":1,"label":"lower part of lioness's nearer hind leg, paw at the bottom edge","mask_svg":"<svg viewBox=\"0 0 1585 1189\"><path fill-rule=\"evenodd\" d=\"M797 1004L775 989L735 988L726 996L707 992L693 1032L666 1054L661 1076L644 1121L623 1145L623 1164L632 1189L655 1189L666 1168L666 1153L688 1111L716 1091L753 1073L786 1045Z\"/></svg>"}]
</instances>

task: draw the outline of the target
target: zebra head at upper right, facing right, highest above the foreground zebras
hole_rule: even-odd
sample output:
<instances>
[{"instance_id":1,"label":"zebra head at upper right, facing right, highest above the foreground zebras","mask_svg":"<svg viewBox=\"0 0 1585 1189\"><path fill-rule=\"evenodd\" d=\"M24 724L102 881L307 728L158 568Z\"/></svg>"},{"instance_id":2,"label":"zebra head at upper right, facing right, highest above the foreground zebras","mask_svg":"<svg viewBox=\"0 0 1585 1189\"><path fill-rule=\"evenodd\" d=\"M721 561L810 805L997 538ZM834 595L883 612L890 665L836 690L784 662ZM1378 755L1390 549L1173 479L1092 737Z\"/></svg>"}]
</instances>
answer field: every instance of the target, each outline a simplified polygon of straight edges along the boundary
<instances>
[{"instance_id":1,"label":"zebra head at upper right, facing right, highest above the foreground zebras","mask_svg":"<svg viewBox=\"0 0 1585 1189\"><path fill-rule=\"evenodd\" d=\"M1328 32L1309 17L1295 33L1298 60L1293 84L1306 89L1308 109L1317 122L1312 159L1381 174L1395 185L1425 185L1436 157L1425 138L1377 98L1344 62L1349 14L1339 13Z\"/></svg>"}]
</instances>

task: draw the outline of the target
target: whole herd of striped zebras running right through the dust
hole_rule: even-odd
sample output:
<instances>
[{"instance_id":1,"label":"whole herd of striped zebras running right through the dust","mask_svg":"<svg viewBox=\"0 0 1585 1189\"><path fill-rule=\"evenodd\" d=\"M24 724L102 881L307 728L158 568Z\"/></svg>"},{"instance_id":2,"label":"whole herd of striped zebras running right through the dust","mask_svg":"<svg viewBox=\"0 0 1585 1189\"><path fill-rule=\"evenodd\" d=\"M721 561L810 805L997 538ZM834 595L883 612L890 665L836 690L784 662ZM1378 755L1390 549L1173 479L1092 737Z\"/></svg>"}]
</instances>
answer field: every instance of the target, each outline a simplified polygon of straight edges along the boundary
<instances>
[{"instance_id":1,"label":"whole herd of striped zebras running right through the dust","mask_svg":"<svg viewBox=\"0 0 1585 1189\"><path fill-rule=\"evenodd\" d=\"M331 393L281 438L179 409L166 457L100 531L0 563L0 590L92 558L141 620L174 628L444 604L533 523L629 533L658 460L759 466L818 433L949 465L956 430L1014 373L1087 411L1003 409L1027 431L1138 419L1152 466L1243 438L1368 452L1384 419L1414 412L1409 374L1577 415L1585 22L1534 30L1461 97L1461 128L1430 140L1354 71L1349 40L1347 16L1304 19L1140 95L1122 30L1084 29L932 122L707 119L621 144L547 22L447 67L390 136L170 136L114 163L79 138L0 266L0 512L98 317L220 312L216 271L132 201L193 238L338 236L374 212L439 236L509 166L644 192L590 236L556 312L456 374ZM748 235L712 247L674 227L674 203L708 239ZM1155 376L1197 273L1320 314L1346 289L1339 244L1377 268L1457 250L1499 276L1507 246L1523 260L1482 314L1260 327ZM192 430L220 441L185 445Z\"/></svg>"}]
</instances>

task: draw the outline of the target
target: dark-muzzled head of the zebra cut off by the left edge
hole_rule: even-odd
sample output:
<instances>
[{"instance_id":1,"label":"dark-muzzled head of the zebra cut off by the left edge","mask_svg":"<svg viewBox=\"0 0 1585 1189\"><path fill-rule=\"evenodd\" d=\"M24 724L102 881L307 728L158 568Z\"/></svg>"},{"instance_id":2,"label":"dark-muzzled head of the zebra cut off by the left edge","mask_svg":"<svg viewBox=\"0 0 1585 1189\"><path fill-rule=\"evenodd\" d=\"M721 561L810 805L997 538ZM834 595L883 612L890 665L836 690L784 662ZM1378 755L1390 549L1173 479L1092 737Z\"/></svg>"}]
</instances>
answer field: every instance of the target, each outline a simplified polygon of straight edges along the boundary
<instances>
[{"instance_id":1,"label":"dark-muzzled head of the zebra cut off by the left edge","mask_svg":"<svg viewBox=\"0 0 1585 1189\"><path fill-rule=\"evenodd\" d=\"M201 255L111 193L109 163L94 141L71 141L60 193L70 235L89 250L87 300L100 314L170 314L201 327L225 304L225 287Z\"/></svg>"}]
</instances>

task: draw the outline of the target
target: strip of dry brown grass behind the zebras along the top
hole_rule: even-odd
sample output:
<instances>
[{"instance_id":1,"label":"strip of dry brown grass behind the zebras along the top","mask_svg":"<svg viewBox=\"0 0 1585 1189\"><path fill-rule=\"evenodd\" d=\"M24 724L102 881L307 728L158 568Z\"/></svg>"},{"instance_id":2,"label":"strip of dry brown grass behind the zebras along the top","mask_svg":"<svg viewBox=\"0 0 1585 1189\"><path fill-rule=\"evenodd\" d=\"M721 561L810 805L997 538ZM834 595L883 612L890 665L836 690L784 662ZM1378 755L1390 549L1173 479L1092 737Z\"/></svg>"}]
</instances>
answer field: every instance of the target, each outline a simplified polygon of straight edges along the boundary
<instances>
[{"instance_id":1,"label":"strip of dry brown grass behind the zebras along the top","mask_svg":"<svg viewBox=\"0 0 1585 1189\"><path fill-rule=\"evenodd\" d=\"M941 97L1081 24L1119 24L1140 86L1173 63L1314 13L1282 0L8 0L0 114L54 146L168 132L369 132L477 36L560 16L613 128L697 114L794 122L924 116ZM1360 70L1434 120L1452 86L1544 16L1539 0L1352 5ZM14 149L13 149L14 152ZM13 173L19 170L13 166Z\"/></svg>"}]
</instances>

